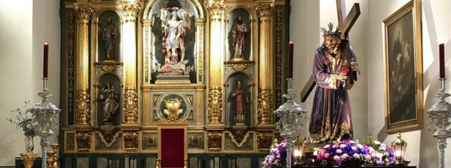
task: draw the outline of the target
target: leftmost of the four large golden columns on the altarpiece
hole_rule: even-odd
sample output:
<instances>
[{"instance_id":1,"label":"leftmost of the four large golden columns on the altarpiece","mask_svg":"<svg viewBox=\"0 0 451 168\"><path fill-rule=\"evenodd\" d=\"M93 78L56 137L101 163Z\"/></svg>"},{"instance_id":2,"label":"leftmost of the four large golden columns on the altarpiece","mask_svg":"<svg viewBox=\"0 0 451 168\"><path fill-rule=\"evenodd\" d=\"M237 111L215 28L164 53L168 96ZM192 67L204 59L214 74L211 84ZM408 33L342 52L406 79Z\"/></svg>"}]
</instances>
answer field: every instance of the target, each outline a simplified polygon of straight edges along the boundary
<instances>
[{"instance_id":1,"label":"leftmost of the four large golden columns on the altarpiece","mask_svg":"<svg viewBox=\"0 0 451 168\"><path fill-rule=\"evenodd\" d=\"M91 118L89 93L89 39L88 23L93 12L91 4L74 4L77 14L76 34L76 96L75 96L75 124L88 125Z\"/></svg>"}]
</instances>

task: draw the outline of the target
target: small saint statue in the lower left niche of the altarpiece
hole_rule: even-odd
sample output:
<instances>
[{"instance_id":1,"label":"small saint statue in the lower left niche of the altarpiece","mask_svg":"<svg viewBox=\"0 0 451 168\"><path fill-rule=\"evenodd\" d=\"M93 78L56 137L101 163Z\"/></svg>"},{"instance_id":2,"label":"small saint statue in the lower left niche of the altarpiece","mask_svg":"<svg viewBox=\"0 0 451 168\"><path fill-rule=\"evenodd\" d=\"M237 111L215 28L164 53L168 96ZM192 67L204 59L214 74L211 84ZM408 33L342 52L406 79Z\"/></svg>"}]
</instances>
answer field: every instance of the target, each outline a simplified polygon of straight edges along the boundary
<instances>
[{"instance_id":1,"label":"small saint statue in the lower left niche of the altarpiece","mask_svg":"<svg viewBox=\"0 0 451 168\"><path fill-rule=\"evenodd\" d=\"M99 99L103 104L103 121L105 124L112 124L114 113L119 106L119 93L109 81L105 82L105 87L100 88L99 93Z\"/></svg>"}]
</instances>

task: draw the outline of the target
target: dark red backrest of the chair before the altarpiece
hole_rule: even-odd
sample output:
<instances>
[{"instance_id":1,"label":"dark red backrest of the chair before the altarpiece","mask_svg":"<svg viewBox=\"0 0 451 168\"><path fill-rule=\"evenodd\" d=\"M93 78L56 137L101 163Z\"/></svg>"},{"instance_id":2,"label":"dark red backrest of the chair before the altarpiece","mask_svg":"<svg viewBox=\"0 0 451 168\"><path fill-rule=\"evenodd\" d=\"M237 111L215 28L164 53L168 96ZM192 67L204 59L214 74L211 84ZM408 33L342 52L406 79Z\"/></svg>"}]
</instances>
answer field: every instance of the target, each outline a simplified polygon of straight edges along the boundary
<instances>
[{"instance_id":1,"label":"dark red backrest of the chair before the altarpiece","mask_svg":"<svg viewBox=\"0 0 451 168\"><path fill-rule=\"evenodd\" d=\"M161 128L161 167L183 167L187 140L184 136L184 128Z\"/></svg>"}]
</instances>

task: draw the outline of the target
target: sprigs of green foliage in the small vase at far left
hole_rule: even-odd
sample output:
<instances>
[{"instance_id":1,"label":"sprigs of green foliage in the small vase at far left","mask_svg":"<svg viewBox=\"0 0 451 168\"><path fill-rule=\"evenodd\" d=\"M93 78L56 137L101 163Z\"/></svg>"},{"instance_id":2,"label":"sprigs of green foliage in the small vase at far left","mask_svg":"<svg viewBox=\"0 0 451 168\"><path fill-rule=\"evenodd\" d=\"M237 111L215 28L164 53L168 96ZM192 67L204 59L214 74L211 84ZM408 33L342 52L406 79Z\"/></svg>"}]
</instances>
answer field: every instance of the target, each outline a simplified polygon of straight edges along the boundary
<instances>
[{"instance_id":1,"label":"sprigs of green foliage in the small vase at far left","mask_svg":"<svg viewBox=\"0 0 451 168\"><path fill-rule=\"evenodd\" d=\"M36 127L38 126L36 122L34 122L34 114L27 108L30 100L25 101L25 110L21 108L16 108L11 110L11 112L16 113L16 119L7 118L12 124L16 125L16 128L21 127L24 130L24 135L29 137L36 136Z\"/></svg>"}]
</instances>

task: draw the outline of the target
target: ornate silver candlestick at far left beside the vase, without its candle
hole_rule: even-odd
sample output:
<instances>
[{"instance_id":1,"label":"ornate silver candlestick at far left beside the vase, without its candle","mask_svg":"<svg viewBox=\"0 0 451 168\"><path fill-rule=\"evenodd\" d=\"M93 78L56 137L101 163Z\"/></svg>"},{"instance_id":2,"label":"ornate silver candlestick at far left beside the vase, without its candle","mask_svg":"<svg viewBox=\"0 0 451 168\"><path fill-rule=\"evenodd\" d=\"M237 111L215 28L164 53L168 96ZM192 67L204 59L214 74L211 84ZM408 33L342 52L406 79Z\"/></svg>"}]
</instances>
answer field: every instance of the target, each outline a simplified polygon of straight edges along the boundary
<instances>
[{"instance_id":1,"label":"ornate silver candlestick at far left beside the vase, without its candle","mask_svg":"<svg viewBox=\"0 0 451 168\"><path fill-rule=\"evenodd\" d=\"M49 136L53 135L53 131L58 129L58 113L61 111L55 104L49 101L49 97L52 94L49 92L48 81L49 78L42 78L44 82L44 88L42 92L38 93L38 96L42 97L41 102L36 103L31 108L31 111L35 115L35 122L38 122L37 132L41 137L42 147L42 167L47 167L47 145L49 145Z\"/></svg>"}]
</instances>

